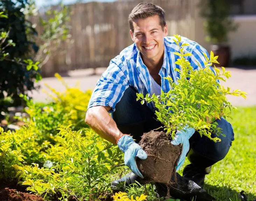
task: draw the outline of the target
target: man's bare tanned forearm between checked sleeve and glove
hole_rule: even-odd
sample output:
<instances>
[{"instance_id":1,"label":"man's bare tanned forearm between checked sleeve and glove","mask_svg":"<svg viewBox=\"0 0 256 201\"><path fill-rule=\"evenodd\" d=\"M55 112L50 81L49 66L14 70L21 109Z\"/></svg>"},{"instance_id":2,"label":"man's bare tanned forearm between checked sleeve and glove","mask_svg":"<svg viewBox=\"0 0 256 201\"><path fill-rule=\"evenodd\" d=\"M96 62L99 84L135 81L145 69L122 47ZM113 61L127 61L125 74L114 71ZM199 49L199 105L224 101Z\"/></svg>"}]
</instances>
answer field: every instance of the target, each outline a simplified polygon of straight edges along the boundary
<instances>
[{"instance_id":1,"label":"man's bare tanned forearm between checked sleeve and glove","mask_svg":"<svg viewBox=\"0 0 256 201\"><path fill-rule=\"evenodd\" d=\"M123 134L119 131L108 110L109 108L104 106L89 108L86 112L85 122L102 138L116 144L116 140Z\"/></svg>"}]
</instances>

